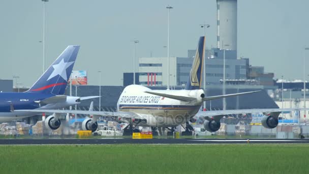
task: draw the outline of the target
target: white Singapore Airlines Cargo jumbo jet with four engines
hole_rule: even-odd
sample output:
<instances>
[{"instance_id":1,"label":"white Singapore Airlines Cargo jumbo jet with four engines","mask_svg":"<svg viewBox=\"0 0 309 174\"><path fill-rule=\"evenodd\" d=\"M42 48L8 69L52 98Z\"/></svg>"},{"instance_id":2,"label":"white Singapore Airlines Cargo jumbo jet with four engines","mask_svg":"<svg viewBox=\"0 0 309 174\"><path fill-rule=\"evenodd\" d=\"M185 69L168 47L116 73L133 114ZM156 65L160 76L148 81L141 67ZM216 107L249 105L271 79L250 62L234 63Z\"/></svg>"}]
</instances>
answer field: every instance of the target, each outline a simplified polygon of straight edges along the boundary
<instances>
[{"instance_id":1,"label":"white Singapore Airlines Cargo jumbo jet with four engines","mask_svg":"<svg viewBox=\"0 0 309 174\"><path fill-rule=\"evenodd\" d=\"M279 113L292 109L240 109L198 113L203 101L259 92L252 91L205 97L205 92L201 89L201 74L204 61L203 51L205 50L204 39L204 37L200 37L185 90L151 90L142 85L129 85L123 90L118 99L117 112L47 109L35 109L32 111L54 113L46 119L46 125L51 125L50 123L54 120L58 120L59 114L61 113L91 114L93 115L92 118L87 118L82 122L82 129L91 130L92 132L97 129L97 120L100 116L116 117L119 121L128 122L129 125L126 128L128 133L132 133L137 126L151 127L152 130L156 130L156 128L168 128L171 130L170 133L172 133L176 126L186 124L186 132L183 132L183 134L190 134L190 130L193 129L189 121L195 122L196 117L203 117L205 119L205 129L210 132L215 132L219 130L221 126L220 119L224 115L252 112L265 113L262 119L262 125L266 128L275 128L278 125Z\"/></svg>"}]
</instances>

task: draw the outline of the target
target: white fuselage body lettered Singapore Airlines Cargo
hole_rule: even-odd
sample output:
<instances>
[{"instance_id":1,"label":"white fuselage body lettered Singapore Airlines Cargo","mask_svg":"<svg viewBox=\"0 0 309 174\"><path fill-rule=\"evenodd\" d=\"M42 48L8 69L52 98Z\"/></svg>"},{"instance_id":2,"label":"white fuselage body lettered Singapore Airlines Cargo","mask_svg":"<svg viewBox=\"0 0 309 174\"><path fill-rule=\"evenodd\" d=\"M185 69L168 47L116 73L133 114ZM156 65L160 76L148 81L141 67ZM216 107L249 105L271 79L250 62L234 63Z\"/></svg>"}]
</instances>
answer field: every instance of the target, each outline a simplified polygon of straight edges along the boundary
<instances>
[{"instance_id":1,"label":"white fuselage body lettered Singapore Airlines Cargo","mask_svg":"<svg viewBox=\"0 0 309 174\"><path fill-rule=\"evenodd\" d=\"M139 126L171 127L178 126L189 121L199 111L202 101L180 101L147 94L150 90L141 85L129 85L121 93L117 108L118 111L130 111L147 120L139 123ZM152 90L153 91L153 90ZM160 90L165 91L166 90ZM192 90L200 91L200 90ZM168 91L173 95L189 95L189 90ZM203 91L203 90L202 90Z\"/></svg>"}]
</instances>

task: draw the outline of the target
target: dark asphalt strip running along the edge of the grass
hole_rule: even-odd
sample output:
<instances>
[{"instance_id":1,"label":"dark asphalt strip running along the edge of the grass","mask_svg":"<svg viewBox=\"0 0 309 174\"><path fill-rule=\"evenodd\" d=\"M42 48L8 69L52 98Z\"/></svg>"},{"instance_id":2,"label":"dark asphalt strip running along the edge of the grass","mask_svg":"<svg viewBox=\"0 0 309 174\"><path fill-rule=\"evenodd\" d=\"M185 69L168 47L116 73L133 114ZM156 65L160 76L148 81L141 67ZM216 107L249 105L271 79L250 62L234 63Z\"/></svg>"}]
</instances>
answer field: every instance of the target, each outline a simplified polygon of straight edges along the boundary
<instances>
[{"instance_id":1,"label":"dark asphalt strip running along the edge of the grass","mask_svg":"<svg viewBox=\"0 0 309 174\"><path fill-rule=\"evenodd\" d=\"M43 144L235 144L248 139L0 139L0 145ZM309 139L249 139L249 143L309 143Z\"/></svg>"}]
</instances>

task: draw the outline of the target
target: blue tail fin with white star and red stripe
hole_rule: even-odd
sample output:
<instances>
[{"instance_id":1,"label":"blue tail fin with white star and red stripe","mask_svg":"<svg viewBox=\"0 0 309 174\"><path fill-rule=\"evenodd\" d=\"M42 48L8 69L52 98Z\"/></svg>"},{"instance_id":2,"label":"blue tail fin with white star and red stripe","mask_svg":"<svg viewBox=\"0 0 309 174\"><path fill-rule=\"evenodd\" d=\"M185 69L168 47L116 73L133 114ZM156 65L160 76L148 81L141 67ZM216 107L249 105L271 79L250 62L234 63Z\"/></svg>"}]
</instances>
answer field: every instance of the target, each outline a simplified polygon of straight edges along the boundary
<instances>
[{"instance_id":1,"label":"blue tail fin with white star and red stripe","mask_svg":"<svg viewBox=\"0 0 309 174\"><path fill-rule=\"evenodd\" d=\"M68 46L26 93L65 94L78 50L78 45Z\"/></svg>"}]
</instances>

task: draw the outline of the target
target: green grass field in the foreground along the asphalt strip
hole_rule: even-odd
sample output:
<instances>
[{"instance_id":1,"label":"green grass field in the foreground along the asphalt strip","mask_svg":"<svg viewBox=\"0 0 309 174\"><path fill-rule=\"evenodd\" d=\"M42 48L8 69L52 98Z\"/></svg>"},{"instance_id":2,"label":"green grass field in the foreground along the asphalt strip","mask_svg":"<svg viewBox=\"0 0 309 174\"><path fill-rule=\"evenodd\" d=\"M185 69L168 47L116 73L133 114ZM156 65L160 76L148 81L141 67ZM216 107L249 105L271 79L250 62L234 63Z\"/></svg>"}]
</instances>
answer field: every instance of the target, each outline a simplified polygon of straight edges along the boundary
<instances>
[{"instance_id":1,"label":"green grass field in the foreground along the asphalt strip","mask_svg":"<svg viewBox=\"0 0 309 174\"><path fill-rule=\"evenodd\" d=\"M0 146L1 173L309 173L309 144Z\"/></svg>"}]
</instances>

